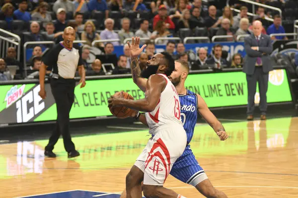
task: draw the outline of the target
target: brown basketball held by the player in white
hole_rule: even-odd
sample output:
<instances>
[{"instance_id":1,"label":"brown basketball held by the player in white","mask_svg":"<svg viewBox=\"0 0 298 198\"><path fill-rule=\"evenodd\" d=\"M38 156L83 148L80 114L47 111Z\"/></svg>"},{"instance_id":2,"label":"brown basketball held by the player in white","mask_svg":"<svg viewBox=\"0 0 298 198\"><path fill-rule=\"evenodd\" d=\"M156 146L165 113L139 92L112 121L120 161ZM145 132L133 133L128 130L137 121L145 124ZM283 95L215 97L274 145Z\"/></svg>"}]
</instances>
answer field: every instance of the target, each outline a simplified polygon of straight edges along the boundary
<instances>
[{"instance_id":1,"label":"brown basketball held by the player in white","mask_svg":"<svg viewBox=\"0 0 298 198\"><path fill-rule=\"evenodd\" d=\"M131 117L131 114L135 112L135 110L121 105L121 101L123 101L123 99L134 98L126 92L117 92L108 99L110 112L121 119Z\"/></svg>"}]
</instances>

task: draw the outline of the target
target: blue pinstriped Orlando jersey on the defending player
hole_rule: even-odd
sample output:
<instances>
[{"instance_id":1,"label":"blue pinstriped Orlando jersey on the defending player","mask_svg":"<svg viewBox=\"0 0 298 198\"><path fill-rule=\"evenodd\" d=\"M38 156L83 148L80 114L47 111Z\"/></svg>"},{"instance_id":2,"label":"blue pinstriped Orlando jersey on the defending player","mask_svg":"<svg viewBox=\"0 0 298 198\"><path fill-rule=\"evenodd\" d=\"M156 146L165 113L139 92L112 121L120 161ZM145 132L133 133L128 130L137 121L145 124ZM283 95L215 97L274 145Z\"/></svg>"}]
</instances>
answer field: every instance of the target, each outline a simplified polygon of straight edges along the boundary
<instances>
[{"instance_id":1,"label":"blue pinstriped Orlando jersey on the defending player","mask_svg":"<svg viewBox=\"0 0 298 198\"><path fill-rule=\"evenodd\" d=\"M194 135L194 129L197 123L198 98L194 92L186 91L186 95L179 95L179 100L181 121L186 131L187 144L189 144Z\"/></svg>"}]
</instances>

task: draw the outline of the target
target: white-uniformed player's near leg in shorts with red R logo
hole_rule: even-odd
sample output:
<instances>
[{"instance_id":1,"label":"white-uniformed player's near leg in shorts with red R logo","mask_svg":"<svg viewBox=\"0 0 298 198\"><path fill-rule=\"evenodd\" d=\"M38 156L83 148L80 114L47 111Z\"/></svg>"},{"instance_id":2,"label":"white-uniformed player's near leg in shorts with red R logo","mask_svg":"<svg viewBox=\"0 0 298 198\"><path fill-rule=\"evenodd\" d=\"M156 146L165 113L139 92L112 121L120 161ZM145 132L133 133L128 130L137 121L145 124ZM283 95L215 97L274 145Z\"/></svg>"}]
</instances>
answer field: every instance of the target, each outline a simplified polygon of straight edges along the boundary
<instances>
[{"instance_id":1,"label":"white-uniformed player's near leg in shorts with red R logo","mask_svg":"<svg viewBox=\"0 0 298 198\"><path fill-rule=\"evenodd\" d=\"M177 126L179 128L179 126ZM182 128L182 126L181 126ZM163 187L174 162L183 153L186 133L182 128L163 129L149 141L151 147L145 162L143 192L146 198L183 198Z\"/></svg>"}]
</instances>

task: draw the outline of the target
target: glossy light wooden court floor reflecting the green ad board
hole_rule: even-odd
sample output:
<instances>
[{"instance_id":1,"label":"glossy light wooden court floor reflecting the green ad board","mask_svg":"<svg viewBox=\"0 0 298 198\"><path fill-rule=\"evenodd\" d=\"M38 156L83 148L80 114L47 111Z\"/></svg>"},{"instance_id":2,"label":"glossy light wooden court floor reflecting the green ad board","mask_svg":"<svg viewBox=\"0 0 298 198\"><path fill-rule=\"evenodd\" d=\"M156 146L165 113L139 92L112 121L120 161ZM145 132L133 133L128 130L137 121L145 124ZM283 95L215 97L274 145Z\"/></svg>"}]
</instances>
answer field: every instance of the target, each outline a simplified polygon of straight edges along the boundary
<instances>
[{"instance_id":1,"label":"glossy light wooden court floor reflecting the green ad board","mask_svg":"<svg viewBox=\"0 0 298 198\"><path fill-rule=\"evenodd\" d=\"M191 142L213 185L229 198L298 198L298 117L229 122L221 142L208 125L198 125ZM44 158L47 140L0 145L0 197L14 198L69 190L119 193L125 176L149 139L128 131L74 137L81 155L68 160L59 140L56 159ZM172 176L165 187L201 198ZM51 195L47 198L53 198Z\"/></svg>"}]
</instances>

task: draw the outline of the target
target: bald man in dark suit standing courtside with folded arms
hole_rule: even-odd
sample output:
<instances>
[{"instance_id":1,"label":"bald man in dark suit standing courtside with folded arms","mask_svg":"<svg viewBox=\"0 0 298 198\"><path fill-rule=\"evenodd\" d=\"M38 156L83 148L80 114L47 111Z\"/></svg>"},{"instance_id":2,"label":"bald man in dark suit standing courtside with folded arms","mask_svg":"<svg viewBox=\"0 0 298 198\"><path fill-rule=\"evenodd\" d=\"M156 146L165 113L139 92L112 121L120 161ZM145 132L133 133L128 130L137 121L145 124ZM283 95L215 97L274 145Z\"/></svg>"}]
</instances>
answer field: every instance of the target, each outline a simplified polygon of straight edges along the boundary
<instances>
[{"instance_id":1,"label":"bald man in dark suit standing courtside with folded arms","mask_svg":"<svg viewBox=\"0 0 298 198\"><path fill-rule=\"evenodd\" d=\"M254 98L257 82L259 84L261 120L266 119L267 96L269 71L273 70L270 62L272 43L268 35L261 34L262 22L253 22L253 34L244 39L246 51L243 72L246 73L248 104L247 120L253 120Z\"/></svg>"}]
</instances>

